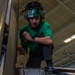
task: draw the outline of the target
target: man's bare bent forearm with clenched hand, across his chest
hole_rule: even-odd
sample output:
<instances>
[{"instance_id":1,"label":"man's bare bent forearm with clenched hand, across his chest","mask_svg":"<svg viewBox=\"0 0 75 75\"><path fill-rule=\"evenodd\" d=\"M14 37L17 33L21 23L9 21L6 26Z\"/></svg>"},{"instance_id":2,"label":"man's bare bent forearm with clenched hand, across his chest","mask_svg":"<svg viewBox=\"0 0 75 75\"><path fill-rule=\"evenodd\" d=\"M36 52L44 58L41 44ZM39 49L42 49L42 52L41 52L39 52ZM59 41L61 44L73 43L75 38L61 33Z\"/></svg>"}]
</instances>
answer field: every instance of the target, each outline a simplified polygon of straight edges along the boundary
<instances>
[{"instance_id":1,"label":"man's bare bent forearm with clenched hand, across his chest","mask_svg":"<svg viewBox=\"0 0 75 75\"><path fill-rule=\"evenodd\" d=\"M29 41L33 41L33 42L37 42L37 43L41 43L45 45L53 44L53 40L50 38L50 36L35 37L33 39L28 32L25 32L23 36L24 36L24 39L29 40Z\"/></svg>"}]
</instances>

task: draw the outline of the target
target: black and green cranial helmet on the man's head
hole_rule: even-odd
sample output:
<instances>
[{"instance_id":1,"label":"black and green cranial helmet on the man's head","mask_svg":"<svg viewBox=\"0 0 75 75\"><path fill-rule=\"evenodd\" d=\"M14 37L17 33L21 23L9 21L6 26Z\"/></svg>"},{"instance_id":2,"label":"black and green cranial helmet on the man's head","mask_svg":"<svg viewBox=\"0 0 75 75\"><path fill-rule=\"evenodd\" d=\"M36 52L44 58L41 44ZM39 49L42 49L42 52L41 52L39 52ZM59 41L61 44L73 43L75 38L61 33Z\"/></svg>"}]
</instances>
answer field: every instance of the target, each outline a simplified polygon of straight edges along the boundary
<instances>
[{"instance_id":1,"label":"black and green cranial helmet on the man's head","mask_svg":"<svg viewBox=\"0 0 75 75\"><path fill-rule=\"evenodd\" d=\"M45 12L41 3L39 2L30 2L25 7L25 17L26 19L31 17L38 17L41 16L44 19Z\"/></svg>"}]
</instances>

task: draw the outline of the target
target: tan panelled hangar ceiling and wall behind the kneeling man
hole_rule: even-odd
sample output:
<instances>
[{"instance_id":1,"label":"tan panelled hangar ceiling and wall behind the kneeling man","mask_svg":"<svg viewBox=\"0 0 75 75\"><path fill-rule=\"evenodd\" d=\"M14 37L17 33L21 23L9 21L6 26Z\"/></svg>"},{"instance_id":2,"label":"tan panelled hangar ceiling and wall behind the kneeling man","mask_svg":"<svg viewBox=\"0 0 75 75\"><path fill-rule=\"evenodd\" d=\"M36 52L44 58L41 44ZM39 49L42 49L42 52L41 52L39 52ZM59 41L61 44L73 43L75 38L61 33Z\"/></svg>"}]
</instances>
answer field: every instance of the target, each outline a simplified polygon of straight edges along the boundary
<instances>
[{"instance_id":1,"label":"tan panelled hangar ceiling and wall behind the kneeling man","mask_svg":"<svg viewBox=\"0 0 75 75\"><path fill-rule=\"evenodd\" d=\"M55 45L54 66L75 67L75 0L19 0L18 30L27 23L20 13L30 1L39 1L43 5L45 20L51 24ZM73 40L64 42L72 36ZM22 58L18 57L18 64L24 60Z\"/></svg>"}]
</instances>

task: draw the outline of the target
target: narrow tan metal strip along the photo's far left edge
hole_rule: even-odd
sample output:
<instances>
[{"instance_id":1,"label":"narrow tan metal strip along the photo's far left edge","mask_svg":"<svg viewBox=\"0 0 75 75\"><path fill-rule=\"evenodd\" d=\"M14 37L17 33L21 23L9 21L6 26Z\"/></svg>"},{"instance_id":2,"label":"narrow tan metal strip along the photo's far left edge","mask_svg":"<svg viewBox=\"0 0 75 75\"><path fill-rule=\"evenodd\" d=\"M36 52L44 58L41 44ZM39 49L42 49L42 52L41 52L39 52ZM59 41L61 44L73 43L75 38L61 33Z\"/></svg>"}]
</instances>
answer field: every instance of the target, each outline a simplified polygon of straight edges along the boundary
<instances>
[{"instance_id":1,"label":"narrow tan metal strip along the photo's far left edge","mask_svg":"<svg viewBox=\"0 0 75 75\"><path fill-rule=\"evenodd\" d=\"M4 25L5 25L7 2L8 0L0 0L0 53L1 53L1 46L2 46L2 40L3 40L3 31L4 31Z\"/></svg>"}]
</instances>

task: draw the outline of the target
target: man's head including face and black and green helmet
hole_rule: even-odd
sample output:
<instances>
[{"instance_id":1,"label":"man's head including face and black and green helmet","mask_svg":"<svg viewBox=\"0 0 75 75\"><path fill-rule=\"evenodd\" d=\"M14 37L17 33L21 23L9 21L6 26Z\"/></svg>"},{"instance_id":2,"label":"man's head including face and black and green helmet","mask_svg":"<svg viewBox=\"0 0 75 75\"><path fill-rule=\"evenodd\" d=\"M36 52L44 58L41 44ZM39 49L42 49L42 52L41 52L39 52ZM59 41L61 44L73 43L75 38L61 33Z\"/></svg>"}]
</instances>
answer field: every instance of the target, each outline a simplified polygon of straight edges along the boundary
<instances>
[{"instance_id":1,"label":"man's head including face and black and green helmet","mask_svg":"<svg viewBox=\"0 0 75 75\"><path fill-rule=\"evenodd\" d=\"M30 22L32 28L37 28L44 19L44 10L39 2L30 2L25 7L25 17Z\"/></svg>"}]
</instances>

